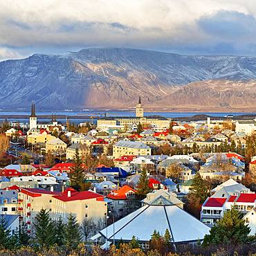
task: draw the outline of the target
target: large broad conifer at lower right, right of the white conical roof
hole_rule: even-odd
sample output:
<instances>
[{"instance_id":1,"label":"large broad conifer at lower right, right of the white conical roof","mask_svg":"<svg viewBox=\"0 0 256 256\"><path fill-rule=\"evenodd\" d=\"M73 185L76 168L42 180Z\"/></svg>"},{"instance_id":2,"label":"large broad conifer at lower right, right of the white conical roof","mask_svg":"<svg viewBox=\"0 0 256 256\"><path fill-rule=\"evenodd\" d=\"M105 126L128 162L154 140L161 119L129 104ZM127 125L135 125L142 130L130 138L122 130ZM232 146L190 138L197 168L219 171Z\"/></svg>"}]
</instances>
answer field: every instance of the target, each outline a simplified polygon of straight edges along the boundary
<instances>
[{"instance_id":1,"label":"large broad conifer at lower right, right of the white conical roof","mask_svg":"<svg viewBox=\"0 0 256 256\"><path fill-rule=\"evenodd\" d=\"M211 228L210 235L205 235L203 246L245 244L249 241L249 233L250 228L245 225L243 214L233 205L231 210L226 211L222 219Z\"/></svg>"}]
</instances>

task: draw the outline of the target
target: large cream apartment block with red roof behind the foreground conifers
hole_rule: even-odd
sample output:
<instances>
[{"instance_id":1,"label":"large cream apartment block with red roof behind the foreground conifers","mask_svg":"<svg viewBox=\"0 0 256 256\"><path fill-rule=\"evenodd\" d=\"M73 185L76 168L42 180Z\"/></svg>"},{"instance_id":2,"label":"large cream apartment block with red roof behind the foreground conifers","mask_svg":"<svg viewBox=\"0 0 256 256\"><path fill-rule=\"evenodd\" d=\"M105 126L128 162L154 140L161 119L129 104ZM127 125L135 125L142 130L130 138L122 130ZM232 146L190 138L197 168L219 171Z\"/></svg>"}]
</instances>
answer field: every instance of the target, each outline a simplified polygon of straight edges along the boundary
<instances>
[{"instance_id":1,"label":"large cream apartment block with red roof behind the foreground conifers","mask_svg":"<svg viewBox=\"0 0 256 256\"><path fill-rule=\"evenodd\" d=\"M84 219L93 219L98 223L107 215L107 202L104 196L90 191L77 192L67 188L64 192L51 192L35 188L21 188L18 195L18 211L24 222L30 226L41 209L49 211L53 220L60 217L64 222L73 214L78 223Z\"/></svg>"}]
</instances>

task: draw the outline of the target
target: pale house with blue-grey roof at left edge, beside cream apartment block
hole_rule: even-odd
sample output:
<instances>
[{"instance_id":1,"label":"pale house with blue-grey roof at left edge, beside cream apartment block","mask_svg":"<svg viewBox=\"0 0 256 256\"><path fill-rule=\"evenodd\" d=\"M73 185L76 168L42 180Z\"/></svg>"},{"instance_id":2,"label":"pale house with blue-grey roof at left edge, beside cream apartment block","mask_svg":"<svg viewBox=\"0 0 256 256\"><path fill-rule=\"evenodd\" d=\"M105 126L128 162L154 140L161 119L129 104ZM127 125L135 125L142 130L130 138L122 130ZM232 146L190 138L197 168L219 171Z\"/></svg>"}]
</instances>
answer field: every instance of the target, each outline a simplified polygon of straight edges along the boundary
<instances>
[{"instance_id":1,"label":"pale house with blue-grey roof at left edge, beside cream apartment block","mask_svg":"<svg viewBox=\"0 0 256 256\"><path fill-rule=\"evenodd\" d=\"M16 190L0 189L0 215L17 214L18 193Z\"/></svg>"}]
</instances>

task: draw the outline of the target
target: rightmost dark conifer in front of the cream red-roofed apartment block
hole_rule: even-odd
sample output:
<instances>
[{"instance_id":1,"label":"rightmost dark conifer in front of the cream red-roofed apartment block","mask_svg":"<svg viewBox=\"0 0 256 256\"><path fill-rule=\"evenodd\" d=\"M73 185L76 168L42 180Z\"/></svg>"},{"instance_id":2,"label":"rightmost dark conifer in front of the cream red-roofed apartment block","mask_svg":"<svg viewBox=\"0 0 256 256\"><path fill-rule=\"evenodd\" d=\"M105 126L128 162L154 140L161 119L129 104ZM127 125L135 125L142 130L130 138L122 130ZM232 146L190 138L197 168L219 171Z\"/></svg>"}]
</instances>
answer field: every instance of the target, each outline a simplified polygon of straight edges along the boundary
<instances>
[{"instance_id":1,"label":"rightmost dark conifer in front of the cream red-roofed apartment block","mask_svg":"<svg viewBox=\"0 0 256 256\"><path fill-rule=\"evenodd\" d=\"M77 220L72 214L68 216L68 222L66 223L66 239L65 244L68 250L77 248L81 241L80 227Z\"/></svg>"}]
</instances>

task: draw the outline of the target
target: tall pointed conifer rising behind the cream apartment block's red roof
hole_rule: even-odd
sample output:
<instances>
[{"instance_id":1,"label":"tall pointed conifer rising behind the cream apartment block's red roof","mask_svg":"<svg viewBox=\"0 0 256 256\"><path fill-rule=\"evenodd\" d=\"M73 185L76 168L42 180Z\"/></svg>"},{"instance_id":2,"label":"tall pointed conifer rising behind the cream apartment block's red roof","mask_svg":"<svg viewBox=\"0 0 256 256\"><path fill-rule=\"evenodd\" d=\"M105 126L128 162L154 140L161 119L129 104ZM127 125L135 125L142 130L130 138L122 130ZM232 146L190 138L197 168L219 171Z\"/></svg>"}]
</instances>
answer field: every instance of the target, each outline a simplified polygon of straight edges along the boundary
<instances>
[{"instance_id":1,"label":"tall pointed conifer rising behind the cream apartment block's red roof","mask_svg":"<svg viewBox=\"0 0 256 256\"><path fill-rule=\"evenodd\" d=\"M80 190L82 184L84 183L84 169L82 167L82 158L78 152L78 149L75 149L75 157L73 159L73 166L71 167L69 177L71 186L75 188L75 190Z\"/></svg>"}]
</instances>

